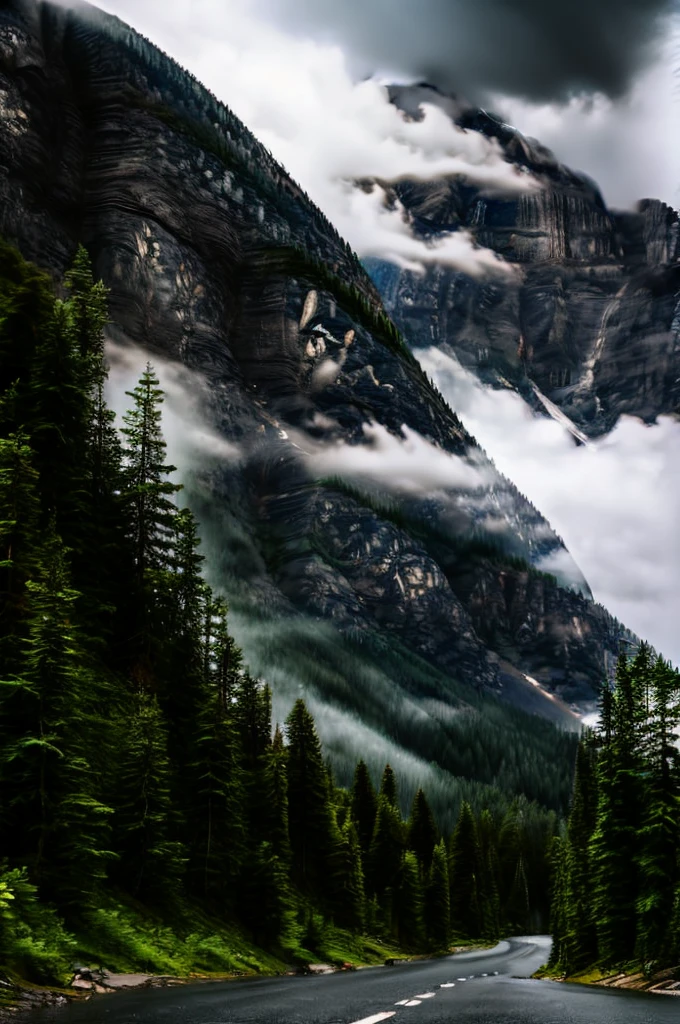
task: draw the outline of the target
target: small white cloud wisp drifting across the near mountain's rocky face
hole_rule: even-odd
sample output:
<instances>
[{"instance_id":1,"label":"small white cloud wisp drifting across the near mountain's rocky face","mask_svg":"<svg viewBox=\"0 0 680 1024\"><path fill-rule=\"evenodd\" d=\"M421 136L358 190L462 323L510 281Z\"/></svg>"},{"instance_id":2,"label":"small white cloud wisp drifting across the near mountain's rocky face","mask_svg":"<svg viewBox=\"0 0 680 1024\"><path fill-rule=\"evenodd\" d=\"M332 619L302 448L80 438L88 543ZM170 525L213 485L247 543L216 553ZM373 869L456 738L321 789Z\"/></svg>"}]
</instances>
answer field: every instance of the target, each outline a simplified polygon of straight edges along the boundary
<instances>
[{"instance_id":1,"label":"small white cloud wisp drifting across the near mountain's rocky face","mask_svg":"<svg viewBox=\"0 0 680 1024\"><path fill-rule=\"evenodd\" d=\"M308 469L317 477L343 479L415 495L475 489L488 484L485 469L436 447L408 426L401 436L379 423L364 424L365 444L301 441Z\"/></svg>"}]
</instances>

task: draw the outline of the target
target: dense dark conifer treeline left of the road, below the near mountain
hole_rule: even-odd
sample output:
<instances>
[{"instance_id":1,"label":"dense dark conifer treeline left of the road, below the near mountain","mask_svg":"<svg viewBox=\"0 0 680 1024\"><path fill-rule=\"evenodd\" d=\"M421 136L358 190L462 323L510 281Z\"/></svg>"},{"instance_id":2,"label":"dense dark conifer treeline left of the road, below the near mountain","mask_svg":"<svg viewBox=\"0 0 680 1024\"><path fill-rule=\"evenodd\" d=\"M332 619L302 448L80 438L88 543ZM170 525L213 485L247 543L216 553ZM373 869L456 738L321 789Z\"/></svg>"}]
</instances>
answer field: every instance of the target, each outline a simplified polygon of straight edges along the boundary
<instances>
[{"instance_id":1,"label":"dense dark conifer treeline left of the road, below the near mountain","mask_svg":"<svg viewBox=\"0 0 680 1024\"><path fill-rule=\"evenodd\" d=\"M422 791L402 819L389 766L340 790L302 700L272 729L176 501L158 379L119 432L82 249L66 286L0 245L0 962L54 977L63 922L112 892L284 953L329 923L411 948L538 927L554 815L464 803L447 838Z\"/></svg>"}]
</instances>

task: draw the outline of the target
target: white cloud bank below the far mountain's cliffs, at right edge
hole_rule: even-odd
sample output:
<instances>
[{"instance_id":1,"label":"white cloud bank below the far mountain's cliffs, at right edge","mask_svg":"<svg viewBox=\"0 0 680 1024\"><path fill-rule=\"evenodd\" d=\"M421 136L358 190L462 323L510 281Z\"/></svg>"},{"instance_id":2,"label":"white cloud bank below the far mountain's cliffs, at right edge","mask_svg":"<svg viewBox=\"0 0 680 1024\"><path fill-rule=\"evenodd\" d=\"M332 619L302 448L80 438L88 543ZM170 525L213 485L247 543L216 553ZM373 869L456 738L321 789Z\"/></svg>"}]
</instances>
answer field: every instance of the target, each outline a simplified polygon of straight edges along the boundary
<instances>
[{"instance_id":1,"label":"white cloud bank below the far mountain's cliffs, at right edge","mask_svg":"<svg viewBox=\"0 0 680 1024\"><path fill-rule=\"evenodd\" d=\"M498 469L564 539L595 599L680 664L680 423L622 417L607 437L579 446L438 349L419 358Z\"/></svg>"}]
</instances>

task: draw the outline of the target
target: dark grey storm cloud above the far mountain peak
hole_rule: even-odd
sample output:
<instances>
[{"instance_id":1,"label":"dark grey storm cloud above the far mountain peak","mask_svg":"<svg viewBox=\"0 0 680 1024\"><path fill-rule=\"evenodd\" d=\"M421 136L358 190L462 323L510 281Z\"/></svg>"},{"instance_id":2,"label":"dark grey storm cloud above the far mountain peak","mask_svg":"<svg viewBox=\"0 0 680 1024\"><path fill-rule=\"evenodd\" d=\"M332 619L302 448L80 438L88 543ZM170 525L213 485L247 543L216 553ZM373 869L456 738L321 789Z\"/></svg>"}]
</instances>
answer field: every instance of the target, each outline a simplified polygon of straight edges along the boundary
<instances>
[{"instance_id":1,"label":"dark grey storm cloud above the far mountain peak","mask_svg":"<svg viewBox=\"0 0 680 1024\"><path fill-rule=\"evenodd\" d=\"M346 46L356 70L468 95L617 97L677 0L257 0L281 24Z\"/></svg>"}]
</instances>

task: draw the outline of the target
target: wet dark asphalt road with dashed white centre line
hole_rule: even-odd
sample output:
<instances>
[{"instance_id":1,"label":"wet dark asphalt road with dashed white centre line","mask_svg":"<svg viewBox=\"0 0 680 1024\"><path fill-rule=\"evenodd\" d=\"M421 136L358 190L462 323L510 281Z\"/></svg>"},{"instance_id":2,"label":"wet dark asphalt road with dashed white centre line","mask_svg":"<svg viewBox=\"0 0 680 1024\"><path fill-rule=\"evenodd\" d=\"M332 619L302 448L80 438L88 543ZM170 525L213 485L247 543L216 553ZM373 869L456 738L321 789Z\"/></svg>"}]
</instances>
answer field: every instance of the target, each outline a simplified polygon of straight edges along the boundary
<instances>
[{"instance_id":1,"label":"wet dark asphalt road with dashed white centre line","mask_svg":"<svg viewBox=\"0 0 680 1024\"><path fill-rule=\"evenodd\" d=\"M655 1024L680 998L533 981L550 940L391 968L102 995L35 1013L36 1024Z\"/></svg>"}]
</instances>

